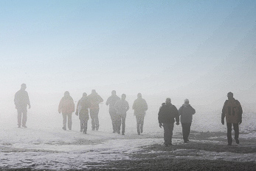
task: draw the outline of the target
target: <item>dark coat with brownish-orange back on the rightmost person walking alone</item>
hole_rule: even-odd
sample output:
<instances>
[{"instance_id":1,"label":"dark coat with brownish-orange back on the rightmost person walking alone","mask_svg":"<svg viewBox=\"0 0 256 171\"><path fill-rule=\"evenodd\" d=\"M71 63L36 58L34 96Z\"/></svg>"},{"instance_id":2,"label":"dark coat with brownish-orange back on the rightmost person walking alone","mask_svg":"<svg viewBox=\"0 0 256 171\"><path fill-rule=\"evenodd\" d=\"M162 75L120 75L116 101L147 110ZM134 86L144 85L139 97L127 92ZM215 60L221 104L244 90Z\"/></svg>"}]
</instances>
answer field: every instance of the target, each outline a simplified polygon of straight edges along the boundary
<instances>
[{"instance_id":1,"label":"dark coat with brownish-orange back on the rightmost person walking alone","mask_svg":"<svg viewBox=\"0 0 256 171\"><path fill-rule=\"evenodd\" d=\"M226 117L226 123L239 123L242 120L243 109L238 100L226 100L222 108L221 119Z\"/></svg>"}]
</instances>

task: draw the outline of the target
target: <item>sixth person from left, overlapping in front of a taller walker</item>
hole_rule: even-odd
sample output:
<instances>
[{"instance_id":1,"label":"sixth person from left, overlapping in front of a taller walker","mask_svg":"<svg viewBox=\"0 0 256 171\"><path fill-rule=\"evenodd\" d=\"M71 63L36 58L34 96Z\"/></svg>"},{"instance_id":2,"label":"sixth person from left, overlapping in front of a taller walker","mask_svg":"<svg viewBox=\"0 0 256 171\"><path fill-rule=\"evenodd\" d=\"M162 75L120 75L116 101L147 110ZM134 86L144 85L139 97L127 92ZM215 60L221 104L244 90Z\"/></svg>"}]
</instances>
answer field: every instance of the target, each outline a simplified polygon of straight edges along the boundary
<instances>
[{"instance_id":1,"label":"sixth person from left, overlapping in front of a taller walker","mask_svg":"<svg viewBox=\"0 0 256 171\"><path fill-rule=\"evenodd\" d=\"M122 124L122 135L125 135L125 118L129 109L129 103L125 101L125 98L126 95L122 94L122 98L114 104L114 108L117 110L117 134L120 134Z\"/></svg>"}]
</instances>

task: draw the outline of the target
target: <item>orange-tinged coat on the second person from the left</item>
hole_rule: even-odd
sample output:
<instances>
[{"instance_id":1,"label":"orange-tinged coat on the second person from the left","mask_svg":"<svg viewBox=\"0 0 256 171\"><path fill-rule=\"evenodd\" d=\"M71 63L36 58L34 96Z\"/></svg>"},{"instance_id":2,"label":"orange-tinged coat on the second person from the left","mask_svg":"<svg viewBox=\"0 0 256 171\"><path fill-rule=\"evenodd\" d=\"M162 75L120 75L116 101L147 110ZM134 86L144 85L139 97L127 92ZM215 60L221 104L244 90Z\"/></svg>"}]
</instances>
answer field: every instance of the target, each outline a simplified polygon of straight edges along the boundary
<instances>
[{"instance_id":1,"label":"orange-tinged coat on the second person from the left","mask_svg":"<svg viewBox=\"0 0 256 171\"><path fill-rule=\"evenodd\" d=\"M71 96L61 98L58 112L62 112L63 114L72 114L72 112L75 112L75 103Z\"/></svg>"}]
</instances>

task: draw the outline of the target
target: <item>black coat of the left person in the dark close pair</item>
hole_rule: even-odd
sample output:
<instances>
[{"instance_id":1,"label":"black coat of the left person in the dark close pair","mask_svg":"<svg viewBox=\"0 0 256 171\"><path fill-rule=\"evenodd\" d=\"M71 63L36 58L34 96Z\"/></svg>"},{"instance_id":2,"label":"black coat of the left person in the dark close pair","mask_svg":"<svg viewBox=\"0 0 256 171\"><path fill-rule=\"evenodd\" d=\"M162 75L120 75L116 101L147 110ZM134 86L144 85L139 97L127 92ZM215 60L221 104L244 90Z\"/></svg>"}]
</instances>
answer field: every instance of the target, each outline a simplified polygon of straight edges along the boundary
<instances>
[{"instance_id":1,"label":"black coat of the left person in the dark close pair","mask_svg":"<svg viewBox=\"0 0 256 171\"><path fill-rule=\"evenodd\" d=\"M179 112L173 104L162 104L158 113L159 123L174 123L179 122Z\"/></svg>"}]
</instances>

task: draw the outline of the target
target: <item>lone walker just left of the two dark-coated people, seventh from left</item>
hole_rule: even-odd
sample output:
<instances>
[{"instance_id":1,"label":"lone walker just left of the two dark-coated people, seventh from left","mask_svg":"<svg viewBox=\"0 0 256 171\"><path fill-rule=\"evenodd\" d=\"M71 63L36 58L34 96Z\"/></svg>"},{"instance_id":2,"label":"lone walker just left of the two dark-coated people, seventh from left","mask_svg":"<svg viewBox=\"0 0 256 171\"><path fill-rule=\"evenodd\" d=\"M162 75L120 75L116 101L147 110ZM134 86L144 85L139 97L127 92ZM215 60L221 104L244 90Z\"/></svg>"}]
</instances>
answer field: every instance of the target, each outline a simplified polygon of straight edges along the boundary
<instances>
[{"instance_id":1,"label":"lone walker just left of the two dark-coated people, seventh from left","mask_svg":"<svg viewBox=\"0 0 256 171\"><path fill-rule=\"evenodd\" d=\"M144 117L146 111L148 110L148 104L145 99L142 98L142 94L138 93L137 99L134 101L133 104L134 115L136 116L136 123L137 123L137 133L143 132L143 124L144 124Z\"/></svg>"}]
</instances>

